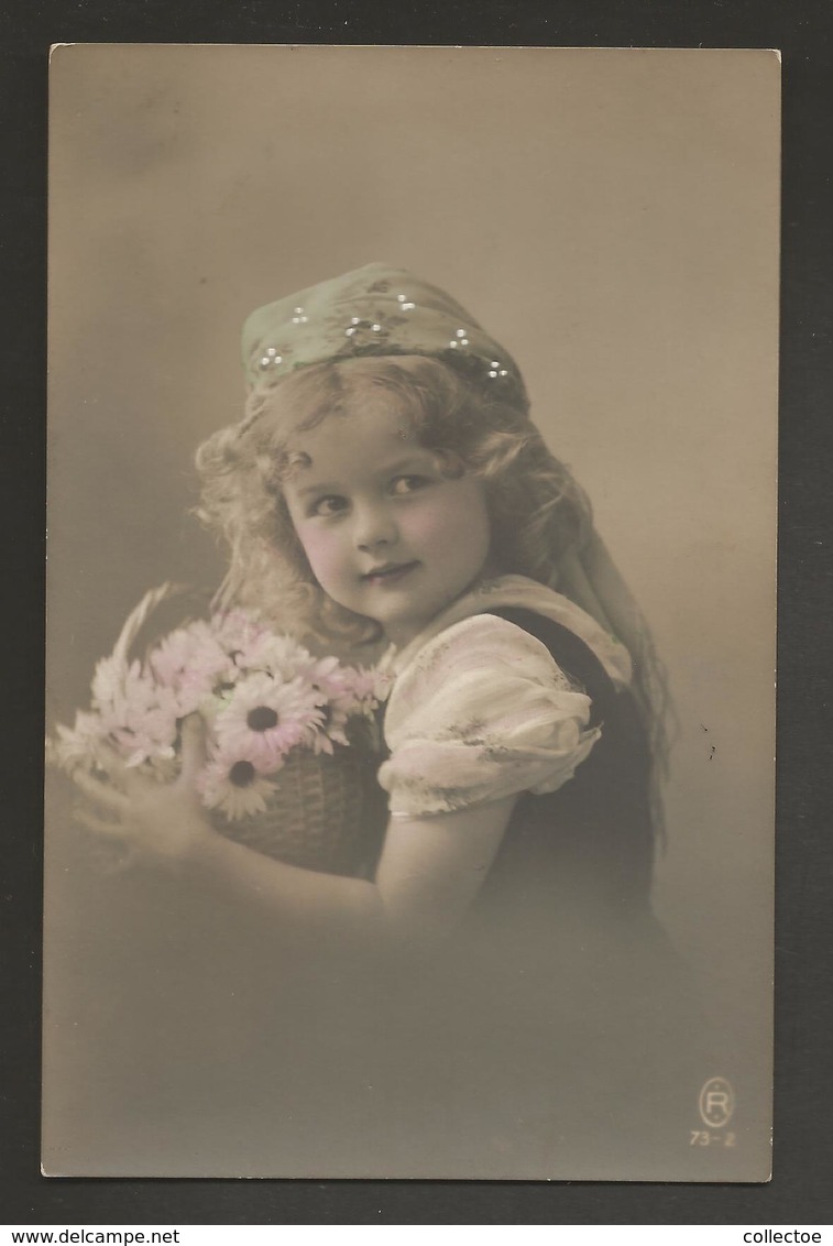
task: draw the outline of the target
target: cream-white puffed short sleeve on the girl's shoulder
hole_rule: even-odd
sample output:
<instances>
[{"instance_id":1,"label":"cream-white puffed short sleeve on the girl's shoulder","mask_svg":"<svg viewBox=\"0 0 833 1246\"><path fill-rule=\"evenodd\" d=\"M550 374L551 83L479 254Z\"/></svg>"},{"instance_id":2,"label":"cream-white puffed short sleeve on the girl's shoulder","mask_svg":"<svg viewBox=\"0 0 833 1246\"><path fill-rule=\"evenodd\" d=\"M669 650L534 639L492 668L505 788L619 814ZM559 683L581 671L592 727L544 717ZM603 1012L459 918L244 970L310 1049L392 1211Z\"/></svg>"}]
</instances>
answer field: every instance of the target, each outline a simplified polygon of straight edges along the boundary
<instances>
[{"instance_id":1,"label":"cream-white puffed short sleeve on the girl's shoulder","mask_svg":"<svg viewBox=\"0 0 833 1246\"><path fill-rule=\"evenodd\" d=\"M391 814L555 791L599 738L589 718L589 697L544 644L507 619L463 619L418 650L391 693L379 773Z\"/></svg>"}]
</instances>

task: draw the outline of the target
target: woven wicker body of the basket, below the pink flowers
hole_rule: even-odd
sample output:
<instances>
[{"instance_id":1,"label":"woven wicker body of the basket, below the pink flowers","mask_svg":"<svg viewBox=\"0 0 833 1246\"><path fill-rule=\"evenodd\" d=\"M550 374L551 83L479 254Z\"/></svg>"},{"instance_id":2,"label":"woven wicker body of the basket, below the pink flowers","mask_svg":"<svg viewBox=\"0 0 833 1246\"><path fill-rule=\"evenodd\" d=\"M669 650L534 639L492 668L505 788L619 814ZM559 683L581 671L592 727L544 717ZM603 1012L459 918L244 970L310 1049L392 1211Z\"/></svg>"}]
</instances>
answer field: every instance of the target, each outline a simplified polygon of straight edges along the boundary
<instances>
[{"instance_id":1,"label":"woven wicker body of the basket, below the pink flowers","mask_svg":"<svg viewBox=\"0 0 833 1246\"><path fill-rule=\"evenodd\" d=\"M387 802L376 782L381 758L362 748L332 755L296 750L276 776L265 812L229 822L227 839L289 865L325 873L366 876L379 856Z\"/></svg>"}]
</instances>

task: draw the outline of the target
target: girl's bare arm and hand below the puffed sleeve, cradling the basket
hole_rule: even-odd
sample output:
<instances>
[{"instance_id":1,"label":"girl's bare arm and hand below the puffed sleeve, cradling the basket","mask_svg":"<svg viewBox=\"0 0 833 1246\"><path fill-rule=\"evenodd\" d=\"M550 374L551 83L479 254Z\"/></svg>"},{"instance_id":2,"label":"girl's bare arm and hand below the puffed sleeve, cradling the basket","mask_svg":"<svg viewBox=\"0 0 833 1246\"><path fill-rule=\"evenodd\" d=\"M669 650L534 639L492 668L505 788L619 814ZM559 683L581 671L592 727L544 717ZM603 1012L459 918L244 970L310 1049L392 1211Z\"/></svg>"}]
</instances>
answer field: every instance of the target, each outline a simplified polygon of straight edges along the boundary
<instances>
[{"instance_id":1,"label":"girl's bare arm and hand below the puffed sleeve, cradling the basket","mask_svg":"<svg viewBox=\"0 0 833 1246\"><path fill-rule=\"evenodd\" d=\"M154 865L256 907L289 934L347 949L422 951L441 942L477 895L512 812L514 796L456 814L392 819L376 880L345 878L284 865L219 835L194 789L202 729L183 724L182 773L159 785L118 766L118 786L78 775L103 812L88 829L129 845ZM117 763L115 761L116 766Z\"/></svg>"}]
</instances>

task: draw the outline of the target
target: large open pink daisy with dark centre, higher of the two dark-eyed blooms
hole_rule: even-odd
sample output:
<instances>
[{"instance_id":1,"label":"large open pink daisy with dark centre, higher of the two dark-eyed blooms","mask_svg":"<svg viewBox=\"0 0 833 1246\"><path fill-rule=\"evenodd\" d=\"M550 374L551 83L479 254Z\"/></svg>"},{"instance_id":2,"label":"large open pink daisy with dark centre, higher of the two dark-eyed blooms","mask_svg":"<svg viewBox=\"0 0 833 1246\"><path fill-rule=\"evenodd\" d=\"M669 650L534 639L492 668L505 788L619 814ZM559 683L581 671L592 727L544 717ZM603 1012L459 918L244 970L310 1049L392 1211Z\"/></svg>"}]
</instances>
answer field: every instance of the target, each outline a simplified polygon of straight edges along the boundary
<instances>
[{"instance_id":1,"label":"large open pink daisy with dark centre, higher of the two dark-eyed blooms","mask_svg":"<svg viewBox=\"0 0 833 1246\"><path fill-rule=\"evenodd\" d=\"M320 721L315 693L301 679L283 684L254 674L237 685L214 720L214 731L224 754L233 753L260 773L271 774Z\"/></svg>"}]
</instances>

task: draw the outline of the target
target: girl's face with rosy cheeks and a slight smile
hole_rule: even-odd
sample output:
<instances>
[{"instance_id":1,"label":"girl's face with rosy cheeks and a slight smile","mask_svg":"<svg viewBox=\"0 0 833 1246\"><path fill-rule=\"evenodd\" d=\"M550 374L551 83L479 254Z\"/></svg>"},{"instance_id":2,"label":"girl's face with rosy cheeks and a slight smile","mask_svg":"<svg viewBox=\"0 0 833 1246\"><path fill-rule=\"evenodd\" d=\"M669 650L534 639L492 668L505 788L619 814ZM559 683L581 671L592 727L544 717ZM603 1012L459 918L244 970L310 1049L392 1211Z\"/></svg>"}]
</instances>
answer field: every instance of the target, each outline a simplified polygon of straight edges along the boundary
<instances>
[{"instance_id":1,"label":"girl's face with rosy cheeks and a slight smile","mask_svg":"<svg viewBox=\"0 0 833 1246\"><path fill-rule=\"evenodd\" d=\"M406 644L486 567L479 480L448 478L384 404L298 434L304 456L284 495L321 588Z\"/></svg>"}]
</instances>

